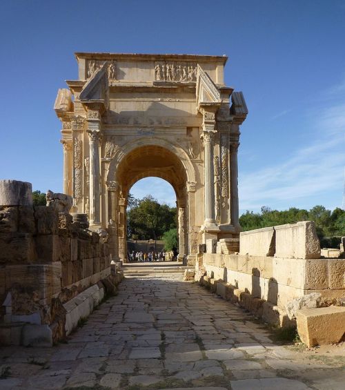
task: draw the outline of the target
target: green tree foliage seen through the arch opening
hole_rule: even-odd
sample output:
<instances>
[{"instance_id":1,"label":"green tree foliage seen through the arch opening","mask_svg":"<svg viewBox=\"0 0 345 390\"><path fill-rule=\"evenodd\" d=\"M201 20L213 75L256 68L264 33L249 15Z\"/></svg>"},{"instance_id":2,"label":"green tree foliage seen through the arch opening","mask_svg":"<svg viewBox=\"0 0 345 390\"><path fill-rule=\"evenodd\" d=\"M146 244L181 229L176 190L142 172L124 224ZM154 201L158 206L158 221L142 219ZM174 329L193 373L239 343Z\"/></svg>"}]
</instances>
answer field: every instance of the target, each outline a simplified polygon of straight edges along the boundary
<instances>
[{"instance_id":1,"label":"green tree foliage seen through the arch opening","mask_svg":"<svg viewBox=\"0 0 345 390\"><path fill-rule=\"evenodd\" d=\"M148 195L135 199L127 211L127 232L129 238L137 240L159 240L172 228L176 228L176 208L159 204Z\"/></svg>"}]
</instances>

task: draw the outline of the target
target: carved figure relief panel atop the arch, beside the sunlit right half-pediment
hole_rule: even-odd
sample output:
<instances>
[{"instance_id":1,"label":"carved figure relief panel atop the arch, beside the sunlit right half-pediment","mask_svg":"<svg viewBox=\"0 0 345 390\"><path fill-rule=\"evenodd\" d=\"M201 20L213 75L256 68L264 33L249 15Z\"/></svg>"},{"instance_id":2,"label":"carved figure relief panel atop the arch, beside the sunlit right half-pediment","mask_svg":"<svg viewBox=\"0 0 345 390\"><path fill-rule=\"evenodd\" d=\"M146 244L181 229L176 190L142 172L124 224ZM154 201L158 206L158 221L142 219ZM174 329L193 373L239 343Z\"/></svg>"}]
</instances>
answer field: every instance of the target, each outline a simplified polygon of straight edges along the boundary
<instances>
[{"instance_id":1,"label":"carved figure relief panel atop the arch, beside the sunlit right half-pediment","mask_svg":"<svg viewBox=\"0 0 345 390\"><path fill-rule=\"evenodd\" d=\"M155 62L155 81L195 83L197 81L197 64L180 61Z\"/></svg>"}]
</instances>

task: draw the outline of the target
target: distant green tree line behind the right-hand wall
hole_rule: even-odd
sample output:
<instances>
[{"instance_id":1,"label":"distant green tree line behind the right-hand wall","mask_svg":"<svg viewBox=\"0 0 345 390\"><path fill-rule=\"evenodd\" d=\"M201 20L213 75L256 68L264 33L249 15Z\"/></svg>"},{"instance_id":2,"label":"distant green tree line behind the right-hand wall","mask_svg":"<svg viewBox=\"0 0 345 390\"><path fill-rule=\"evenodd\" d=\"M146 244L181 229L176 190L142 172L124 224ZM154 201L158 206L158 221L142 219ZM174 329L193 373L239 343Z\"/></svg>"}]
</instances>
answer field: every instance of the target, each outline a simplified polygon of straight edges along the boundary
<instances>
[{"instance_id":1,"label":"distant green tree line behind the right-hand wall","mask_svg":"<svg viewBox=\"0 0 345 390\"><path fill-rule=\"evenodd\" d=\"M239 217L243 231L282 224L295 224L299 221L315 222L322 248L335 248L339 245L340 237L345 235L345 211L338 207L333 211L327 210L324 206L314 206L309 211L295 207L277 211L263 206L260 213L247 210Z\"/></svg>"}]
</instances>

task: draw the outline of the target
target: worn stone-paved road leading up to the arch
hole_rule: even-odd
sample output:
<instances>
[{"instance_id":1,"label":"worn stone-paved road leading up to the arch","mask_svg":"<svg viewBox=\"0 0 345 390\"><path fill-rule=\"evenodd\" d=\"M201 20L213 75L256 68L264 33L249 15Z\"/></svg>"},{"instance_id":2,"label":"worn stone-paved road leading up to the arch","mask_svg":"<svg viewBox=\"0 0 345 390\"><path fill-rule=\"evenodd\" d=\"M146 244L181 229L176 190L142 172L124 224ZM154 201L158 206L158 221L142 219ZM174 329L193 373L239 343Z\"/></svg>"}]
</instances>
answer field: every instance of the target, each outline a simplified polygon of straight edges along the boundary
<instances>
[{"instance_id":1,"label":"worn stone-paved road leading up to the arch","mask_svg":"<svg viewBox=\"0 0 345 390\"><path fill-rule=\"evenodd\" d=\"M1 349L0 389L344 389L342 356L278 346L250 318L180 274L126 279L68 344Z\"/></svg>"}]
</instances>

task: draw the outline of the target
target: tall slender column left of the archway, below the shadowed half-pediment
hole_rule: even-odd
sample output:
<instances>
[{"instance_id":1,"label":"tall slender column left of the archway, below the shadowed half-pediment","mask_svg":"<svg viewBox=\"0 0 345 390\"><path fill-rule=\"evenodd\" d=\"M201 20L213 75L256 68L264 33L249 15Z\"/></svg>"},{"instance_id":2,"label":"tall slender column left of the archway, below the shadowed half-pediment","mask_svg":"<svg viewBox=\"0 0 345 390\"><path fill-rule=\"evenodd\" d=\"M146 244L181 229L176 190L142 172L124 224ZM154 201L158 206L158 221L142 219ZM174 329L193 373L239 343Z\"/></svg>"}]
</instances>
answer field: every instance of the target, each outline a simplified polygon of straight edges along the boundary
<instances>
[{"instance_id":1,"label":"tall slender column left of the archway, below the shadowed half-pediment","mask_svg":"<svg viewBox=\"0 0 345 390\"><path fill-rule=\"evenodd\" d=\"M90 146L90 224L100 224L99 132L88 130Z\"/></svg>"}]
</instances>

